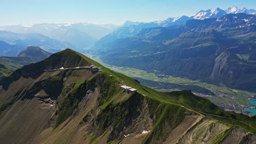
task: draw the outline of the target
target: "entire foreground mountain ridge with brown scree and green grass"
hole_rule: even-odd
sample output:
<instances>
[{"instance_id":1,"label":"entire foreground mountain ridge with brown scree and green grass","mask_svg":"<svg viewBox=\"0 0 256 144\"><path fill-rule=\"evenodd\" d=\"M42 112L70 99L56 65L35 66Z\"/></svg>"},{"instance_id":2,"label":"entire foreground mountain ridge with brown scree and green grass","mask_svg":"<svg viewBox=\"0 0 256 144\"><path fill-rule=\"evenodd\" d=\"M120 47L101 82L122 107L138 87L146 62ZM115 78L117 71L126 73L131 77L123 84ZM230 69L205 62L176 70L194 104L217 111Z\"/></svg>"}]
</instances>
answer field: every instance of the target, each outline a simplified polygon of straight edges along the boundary
<instances>
[{"instance_id":1,"label":"entire foreground mountain ridge with brown scree and green grass","mask_svg":"<svg viewBox=\"0 0 256 144\"><path fill-rule=\"evenodd\" d=\"M91 64L102 71L44 71ZM251 143L256 139L255 117L224 112L189 91L154 91L69 49L26 65L0 83L2 143ZM138 92L124 92L123 84Z\"/></svg>"}]
</instances>

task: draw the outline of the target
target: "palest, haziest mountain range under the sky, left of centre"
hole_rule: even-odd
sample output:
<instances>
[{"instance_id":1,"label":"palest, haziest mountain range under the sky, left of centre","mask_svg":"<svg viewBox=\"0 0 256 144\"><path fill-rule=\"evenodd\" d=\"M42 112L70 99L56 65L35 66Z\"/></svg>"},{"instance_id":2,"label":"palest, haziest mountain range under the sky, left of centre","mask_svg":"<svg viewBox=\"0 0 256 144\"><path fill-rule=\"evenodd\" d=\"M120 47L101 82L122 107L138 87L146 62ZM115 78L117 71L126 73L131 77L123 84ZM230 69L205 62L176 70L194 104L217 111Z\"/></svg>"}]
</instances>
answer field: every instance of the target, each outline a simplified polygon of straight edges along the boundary
<instances>
[{"instance_id":1,"label":"palest, haziest mountain range under the sky, left of centre","mask_svg":"<svg viewBox=\"0 0 256 144\"><path fill-rule=\"evenodd\" d=\"M75 46L77 49L84 49L106 34L114 31L118 26L95 25L91 23L39 23L31 27L22 25L2 26L0 30L15 33L39 33L51 39L57 39Z\"/></svg>"}]
</instances>

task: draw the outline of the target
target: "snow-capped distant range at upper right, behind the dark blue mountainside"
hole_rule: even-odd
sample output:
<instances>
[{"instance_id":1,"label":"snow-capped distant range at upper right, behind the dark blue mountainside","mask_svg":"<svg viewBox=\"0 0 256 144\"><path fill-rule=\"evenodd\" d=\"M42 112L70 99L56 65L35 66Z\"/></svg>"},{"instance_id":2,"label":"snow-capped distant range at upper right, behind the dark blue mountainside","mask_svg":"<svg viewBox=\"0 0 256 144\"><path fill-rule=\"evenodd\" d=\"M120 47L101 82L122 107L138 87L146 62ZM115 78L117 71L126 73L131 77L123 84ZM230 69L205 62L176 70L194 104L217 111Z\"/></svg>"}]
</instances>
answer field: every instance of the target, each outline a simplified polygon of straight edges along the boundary
<instances>
[{"instance_id":1,"label":"snow-capped distant range at upper right, behind the dark blue mountainside","mask_svg":"<svg viewBox=\"0 0 256 144\"><path fill-rule=\"evenodd\" d=\"M208 10L200 10L194 15L191 16L180 16L180 17L170 17L164 21L154 21L154 22L131 22L127 21L125 24L118 29L116 29L113 33L106 35L96 42L95 47L98 49L106 48L108 43L112 43L115 39L127 38L132 35L138 34L142 29L145 28L153 28L153 27L170 27L174 25L185 25L188 20L196 19L211 19L211 18L219 18L226 14L237 14L237 13L245 13L245 14L253 14L256 15L256 10L254 9L246 9L243 8L238 9L237 7L228 8L226 10L222 10L220 8L217 9L208 9Z\"/></svg>"}]
</instances>

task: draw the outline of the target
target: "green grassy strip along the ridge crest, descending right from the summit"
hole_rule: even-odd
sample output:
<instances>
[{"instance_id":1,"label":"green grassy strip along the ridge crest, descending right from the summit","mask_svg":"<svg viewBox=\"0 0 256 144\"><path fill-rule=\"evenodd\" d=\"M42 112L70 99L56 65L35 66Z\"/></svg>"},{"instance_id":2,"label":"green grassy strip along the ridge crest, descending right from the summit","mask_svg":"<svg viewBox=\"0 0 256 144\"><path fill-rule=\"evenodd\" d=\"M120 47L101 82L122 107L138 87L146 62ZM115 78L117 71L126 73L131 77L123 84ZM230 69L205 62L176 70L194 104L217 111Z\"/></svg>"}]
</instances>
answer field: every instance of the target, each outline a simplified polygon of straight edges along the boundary
<instances>
[{"instance_id":1,"label":"green grassy strip along the ridge crest, descending right from the summit","mask_svg":"<svg viewBox=\"0 0 256 144\"><path fill-rule=\"evenodd\" d=\"M198 97L189 91L178 91L178 92L159 92L149 87L142 86L135 80L128 76L120 73L116 73L108 68L103 67L100 63L93 61L92 59L77 53L81 57L85 58L86 61L94 63L98 67L101 67L106 76L113 75L116 81L123 81L127 83L127 86L136 88L139 93L145 95L150 99L159 101L160 103L182 105L188 109L194 110L199 113L203 113L208 117L218 119L219 121L236 125L238 127L245 128L256 134L256 117L248 117L246 115L237 114L235 112L225 112L218 106L211 103L210 100Z\"/></svg>"}]
</instances>

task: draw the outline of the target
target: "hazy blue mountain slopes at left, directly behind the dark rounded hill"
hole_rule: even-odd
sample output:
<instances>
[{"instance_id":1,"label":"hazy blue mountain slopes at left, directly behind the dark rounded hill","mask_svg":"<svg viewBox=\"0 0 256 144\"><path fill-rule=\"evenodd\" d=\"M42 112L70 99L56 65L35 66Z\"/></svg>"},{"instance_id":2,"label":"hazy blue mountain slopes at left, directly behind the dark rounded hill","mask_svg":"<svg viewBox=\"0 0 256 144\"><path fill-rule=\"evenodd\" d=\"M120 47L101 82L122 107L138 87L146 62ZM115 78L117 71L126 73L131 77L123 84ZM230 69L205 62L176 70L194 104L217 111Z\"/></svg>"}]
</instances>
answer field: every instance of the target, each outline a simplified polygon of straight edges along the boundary
<instances>
[{"instance_id":1,"label":"hazy blue mountain slopes at left, directly behind the dark rounded hill","mask_svg":"<svg viewBox=\"0 0 256 144\"><path fill-rule=\"evenodd\" d=\"M37 45L43 50L49 52L61 51L68 47L72 47L73 49L75 49L75 47L69 43L50 39L42 34L37 33L25 34L0 31L0 40L4 41L5 43L16 45L17 47L19 47L20 51L25 50L26 47L33 45Z\"/></svg>"}]
</instances>

